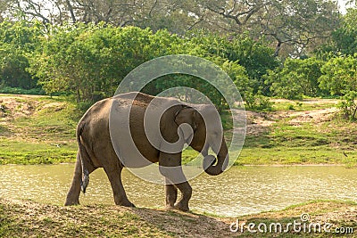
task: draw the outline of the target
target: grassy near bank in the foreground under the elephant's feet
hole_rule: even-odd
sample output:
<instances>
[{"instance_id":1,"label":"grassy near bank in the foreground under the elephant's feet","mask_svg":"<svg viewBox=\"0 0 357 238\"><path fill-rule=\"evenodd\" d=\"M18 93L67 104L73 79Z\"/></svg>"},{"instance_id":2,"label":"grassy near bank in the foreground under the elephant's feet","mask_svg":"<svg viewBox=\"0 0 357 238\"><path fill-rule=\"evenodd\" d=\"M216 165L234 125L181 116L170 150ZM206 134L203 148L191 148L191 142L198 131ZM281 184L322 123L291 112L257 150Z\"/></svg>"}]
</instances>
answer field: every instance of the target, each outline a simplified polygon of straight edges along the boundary
<instances>
[{"instance_id":1,"label":"grassy near bank in the foreground under the elephant's feet","mask_svg":"<svg viewBox=\"0 0 357 238\"><path fill-rule=\"evenodd\" d=\"M280 211L263 212L244 217L212 217L197 213L158 209L129 209L119 206L60 207L33 201L0 199L1 237L331 237L328 232L303 233L291 229L288 233L232 233L231 223L301 222L308 213L311 223L331 224L357 231L357 205L338 201L313 201ZM341 237L353 237L343 234Z\"/></svg>"}]
</instances>

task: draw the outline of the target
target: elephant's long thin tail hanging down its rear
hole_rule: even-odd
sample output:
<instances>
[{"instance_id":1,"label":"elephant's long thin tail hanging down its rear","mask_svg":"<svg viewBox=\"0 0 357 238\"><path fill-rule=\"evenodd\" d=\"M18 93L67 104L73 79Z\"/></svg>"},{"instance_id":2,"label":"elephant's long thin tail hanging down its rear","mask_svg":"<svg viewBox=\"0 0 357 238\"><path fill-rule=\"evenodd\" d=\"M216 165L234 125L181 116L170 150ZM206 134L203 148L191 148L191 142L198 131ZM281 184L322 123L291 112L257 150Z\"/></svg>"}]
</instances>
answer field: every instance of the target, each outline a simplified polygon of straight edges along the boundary
<instances>
[{"instance_id":1,"label":"elephant's long thin tail hanging down its rear","mask_svg":"<svg viewBox=\"0 0 357 238\"><path fill-rule=\"evenodd\" d=\"M89 184L89 170L88 168L91 166L90 156L87 152L86 147L83 144L83 137L81 136L83 133L83 129L86 126L86 123L83 121L79 122L77 127L77 143L79 144L79 159L82 167L82 177L80 181L80 189L83 193L86 193L87 185Z\"/></svg>"}]
</instances>

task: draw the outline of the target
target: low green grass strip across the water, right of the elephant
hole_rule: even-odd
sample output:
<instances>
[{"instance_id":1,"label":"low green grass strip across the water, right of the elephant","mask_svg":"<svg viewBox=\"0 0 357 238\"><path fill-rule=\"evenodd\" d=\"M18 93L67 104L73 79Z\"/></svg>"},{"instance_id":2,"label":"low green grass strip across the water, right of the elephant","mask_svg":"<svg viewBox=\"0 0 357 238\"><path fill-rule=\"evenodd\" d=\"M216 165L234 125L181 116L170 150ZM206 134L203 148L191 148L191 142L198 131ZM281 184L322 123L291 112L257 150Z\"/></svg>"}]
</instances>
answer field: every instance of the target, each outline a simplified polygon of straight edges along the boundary
<instances>
[{"instance_id":1,"label":"low green grass strip across the water, right of the elephant","mask_svg":"<svg viewBox=\"0 0 357 238\"><path fill-rule=\"evenodd\" d=\"M345 128L343 128L345 127ZM247 136L239 164L357 164L357 127L328 121L294 127L280 121L263 135ZM347 157L345 156L347 155Z\"/></svg>"}]
</instances>

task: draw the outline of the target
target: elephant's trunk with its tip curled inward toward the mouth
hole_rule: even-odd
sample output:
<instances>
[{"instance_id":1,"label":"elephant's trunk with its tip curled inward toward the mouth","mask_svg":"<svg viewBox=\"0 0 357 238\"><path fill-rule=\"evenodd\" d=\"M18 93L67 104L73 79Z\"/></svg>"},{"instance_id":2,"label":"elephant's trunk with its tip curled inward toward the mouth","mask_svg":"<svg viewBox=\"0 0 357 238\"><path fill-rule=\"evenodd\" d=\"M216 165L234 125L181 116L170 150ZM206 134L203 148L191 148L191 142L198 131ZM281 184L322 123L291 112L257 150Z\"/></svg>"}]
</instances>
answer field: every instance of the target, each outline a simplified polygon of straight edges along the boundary
<instances>
[{"instance_id":1,"label":"elephant's trunk with its tip curled inward toward the mouth","mask_svg":"<svg viewBox=\"0 0 357 238\"><path fill-rule=\"evenodd\" d=\"M203 159L203 169L204 171L211 176L220 175L228 166L229 156L227 144L223 138L220 145L220 151L217 154L218 161L214 156L208 155ZM217 164L214 165L217 161Z\"/></svg>"}]
</instances>

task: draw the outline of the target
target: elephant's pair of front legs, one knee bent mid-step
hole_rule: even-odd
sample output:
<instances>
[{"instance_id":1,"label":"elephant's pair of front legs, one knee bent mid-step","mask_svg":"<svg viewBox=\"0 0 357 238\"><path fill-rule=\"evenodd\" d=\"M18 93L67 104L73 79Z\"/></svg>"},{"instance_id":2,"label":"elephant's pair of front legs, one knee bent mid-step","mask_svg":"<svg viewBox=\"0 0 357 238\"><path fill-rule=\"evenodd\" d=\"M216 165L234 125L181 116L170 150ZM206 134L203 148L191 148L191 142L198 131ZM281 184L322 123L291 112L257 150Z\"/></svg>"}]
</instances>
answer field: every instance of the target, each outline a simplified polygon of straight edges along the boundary
<instances>
[{"instance_id":1,"label":"elephant's pair of front legs, one knee bent mid-step","mask_svg":"<svg viewBox=\"0 0 357 238\"><path fill-rule=\"evenodd\" d=\"M191 199L192 188L181 168L181 153L160 152L160 172L165 176L166 183L166 205L172 206L177 198L175 187L179 188L181 198L174 207L183 211L189 210L188 201ZM169 189L169 190L168 190ZM168 204L169 203L169 204Z\"/></svg>"}]
</instances>

